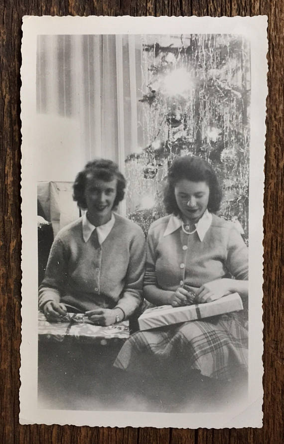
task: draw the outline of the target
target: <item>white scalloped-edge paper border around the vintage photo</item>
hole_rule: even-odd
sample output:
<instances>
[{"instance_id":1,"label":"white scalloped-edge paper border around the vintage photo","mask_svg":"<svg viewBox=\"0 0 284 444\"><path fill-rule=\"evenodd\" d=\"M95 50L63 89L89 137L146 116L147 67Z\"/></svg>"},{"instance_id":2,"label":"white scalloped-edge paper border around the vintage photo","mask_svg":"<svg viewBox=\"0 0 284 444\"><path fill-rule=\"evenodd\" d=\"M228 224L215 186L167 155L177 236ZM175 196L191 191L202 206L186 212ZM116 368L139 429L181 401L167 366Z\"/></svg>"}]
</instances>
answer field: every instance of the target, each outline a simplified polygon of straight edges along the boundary
<instances>
[{"instance_id":1,"label":"white scalloped-edge paper border around the vintage photo","mask_svg":"<svg viewBox=\"0 0 284 444\"><path fill-rule=\"evenodd\" d=\"M20 424L104 427L262 427L263 197L266 140L268 17L24 16L21 66L22 342ZM220 413L92 412L37 407L36 40L38 34L242 34L251 44L249 200L249 396Z\"/></svg>"}]
</instances>

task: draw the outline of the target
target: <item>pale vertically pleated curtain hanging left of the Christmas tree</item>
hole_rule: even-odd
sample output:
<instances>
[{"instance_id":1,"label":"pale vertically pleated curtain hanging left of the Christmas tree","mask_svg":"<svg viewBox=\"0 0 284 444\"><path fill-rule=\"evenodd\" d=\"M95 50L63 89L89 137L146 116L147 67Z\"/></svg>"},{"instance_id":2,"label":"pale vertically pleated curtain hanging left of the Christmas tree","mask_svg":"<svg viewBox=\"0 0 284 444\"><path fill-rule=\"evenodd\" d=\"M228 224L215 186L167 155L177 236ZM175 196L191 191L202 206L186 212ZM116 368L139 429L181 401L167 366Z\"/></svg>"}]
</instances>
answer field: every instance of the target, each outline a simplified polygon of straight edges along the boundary
<instances>
[{"instance_id":1,"label":"pale vertically pleated curtain hanging left of the Christmas tree","mask_svg":"<svg viewBox=\"0 0 284 444\"><path fill-rule=\"evenodd\" d=\"M78 161L78 155L73 159L72 152L78 154L79 150L81 164L104 157L116 161L124 171L127 155L143 144L139 142L138 122L141 66L139 36L38 36L37 113L50 122L57 116L59 122L69 122L70 131L76 132L76 146L70 146L69 137L71 158L62 168ZM58 140L56 134L52 135L52 144L56 143L62 150L62 134ZM55 160L50 158L50 165Z\"/></svg>"}]
</instances>

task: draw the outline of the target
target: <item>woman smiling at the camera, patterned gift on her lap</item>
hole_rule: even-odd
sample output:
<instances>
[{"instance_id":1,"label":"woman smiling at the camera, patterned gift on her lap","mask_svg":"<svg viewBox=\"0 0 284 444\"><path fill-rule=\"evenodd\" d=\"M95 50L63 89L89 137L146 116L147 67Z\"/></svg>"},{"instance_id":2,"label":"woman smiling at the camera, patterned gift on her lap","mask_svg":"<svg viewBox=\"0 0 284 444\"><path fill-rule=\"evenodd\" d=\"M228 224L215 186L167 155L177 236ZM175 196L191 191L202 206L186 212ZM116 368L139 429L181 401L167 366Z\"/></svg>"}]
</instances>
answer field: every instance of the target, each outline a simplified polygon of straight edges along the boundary
<instances>
[{"instance_id":1,"label":"woman smiling at the camera, patterned gift on her lap","mask_svg":"<svg viewBox=\"0 0 284 444\"><path fill-rule=\"evenodd\" d=\"M39 288L39 308L51 320L67 311L97 325L129 318L142 303L144 234L114 210L126 181L116 163L88 162L74 182L73 198L86 213L64 227L51 247Z\"/></svg>"}]
</instances>

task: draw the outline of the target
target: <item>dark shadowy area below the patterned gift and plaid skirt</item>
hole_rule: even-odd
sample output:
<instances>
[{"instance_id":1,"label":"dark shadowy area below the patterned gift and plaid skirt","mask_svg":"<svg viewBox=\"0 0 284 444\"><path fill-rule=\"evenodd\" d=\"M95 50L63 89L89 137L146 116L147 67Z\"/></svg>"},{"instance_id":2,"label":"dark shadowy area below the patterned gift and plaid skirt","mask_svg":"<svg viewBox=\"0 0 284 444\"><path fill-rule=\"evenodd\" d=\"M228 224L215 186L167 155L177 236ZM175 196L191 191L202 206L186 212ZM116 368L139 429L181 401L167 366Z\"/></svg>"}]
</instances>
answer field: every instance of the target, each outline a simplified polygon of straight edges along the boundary
<instances>
[{"instance_id":1,"label":"dark shadowy area below the patterned gift and plaid skirt","mask_svg":"<svg viewBox=\"0 0 284 444\"><path fill-rule=\"evenodd\" d=\"M245 375L238 381L212 380L175 372L152 380L113 367L120 341L107 345L39 342L38 406L56 410L217 412L244 399Z\"/></svg>"}]
</instances>

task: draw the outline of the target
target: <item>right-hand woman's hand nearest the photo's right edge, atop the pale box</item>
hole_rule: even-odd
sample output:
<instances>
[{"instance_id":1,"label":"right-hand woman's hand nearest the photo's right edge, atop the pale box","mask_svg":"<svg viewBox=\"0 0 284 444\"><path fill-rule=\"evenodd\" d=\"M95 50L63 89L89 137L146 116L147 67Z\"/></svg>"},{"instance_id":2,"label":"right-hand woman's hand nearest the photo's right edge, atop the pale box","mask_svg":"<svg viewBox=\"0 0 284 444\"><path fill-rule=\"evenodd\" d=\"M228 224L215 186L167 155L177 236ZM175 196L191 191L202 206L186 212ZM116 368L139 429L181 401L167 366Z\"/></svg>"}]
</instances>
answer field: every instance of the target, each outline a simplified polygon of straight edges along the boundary
<instances>
[{"instance_id":1,"label":"right-hand woman's hand nearest the photo's right edge, atop the pale box","mask_svg":"<svg viewBox=\"0 0 284 444\"><path fill-rule=\"evenodd\" d=\"M196 303L211 302L231 293L231 279L216 279L207 282L195 292Z\"/></svg>"}]
</instances>

